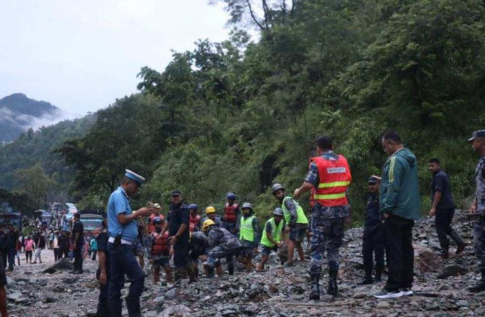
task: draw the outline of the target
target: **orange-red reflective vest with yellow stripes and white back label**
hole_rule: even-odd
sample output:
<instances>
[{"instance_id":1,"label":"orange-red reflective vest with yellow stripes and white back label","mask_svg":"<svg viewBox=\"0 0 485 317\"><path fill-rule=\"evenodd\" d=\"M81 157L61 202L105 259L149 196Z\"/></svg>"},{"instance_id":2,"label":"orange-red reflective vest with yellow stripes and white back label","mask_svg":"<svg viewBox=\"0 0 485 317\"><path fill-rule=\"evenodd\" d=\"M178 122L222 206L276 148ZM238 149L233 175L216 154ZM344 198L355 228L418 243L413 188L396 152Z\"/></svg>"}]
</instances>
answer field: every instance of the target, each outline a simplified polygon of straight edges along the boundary
<instances>
[{"instance_id":1,"label":"orange-red reflective vest with yellow stripes and white back label","mask_svg":"<svg viewBox=\"0 0 485 317\"><path fill-rule=\"evenodd\" d=\"M327 160L322 156L312 158L318 168L319 184L313 195L318 204L325 207L348 204L345 192L352 181L351 170L347 160L338 155L338 160Z\"/></svg>"}]
</instances>

